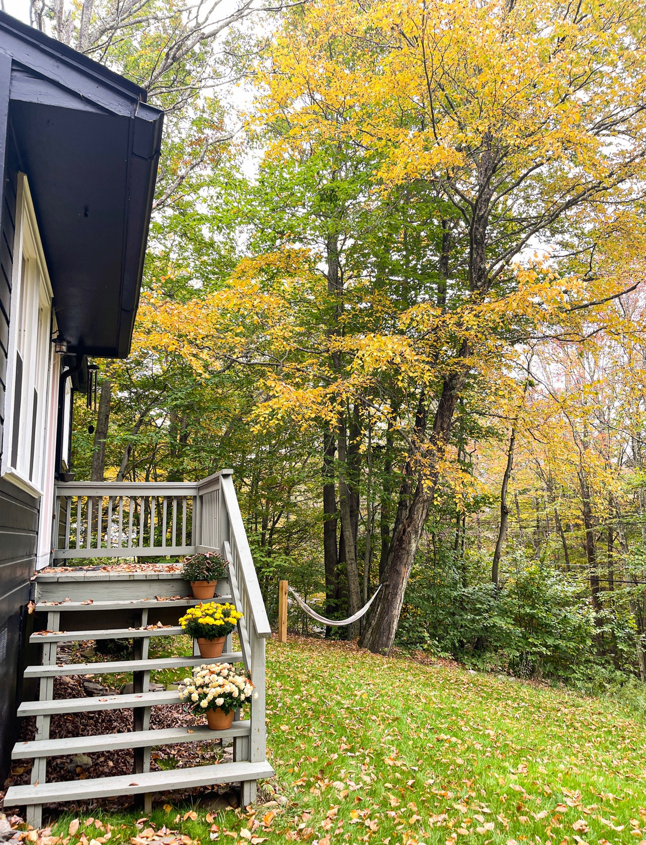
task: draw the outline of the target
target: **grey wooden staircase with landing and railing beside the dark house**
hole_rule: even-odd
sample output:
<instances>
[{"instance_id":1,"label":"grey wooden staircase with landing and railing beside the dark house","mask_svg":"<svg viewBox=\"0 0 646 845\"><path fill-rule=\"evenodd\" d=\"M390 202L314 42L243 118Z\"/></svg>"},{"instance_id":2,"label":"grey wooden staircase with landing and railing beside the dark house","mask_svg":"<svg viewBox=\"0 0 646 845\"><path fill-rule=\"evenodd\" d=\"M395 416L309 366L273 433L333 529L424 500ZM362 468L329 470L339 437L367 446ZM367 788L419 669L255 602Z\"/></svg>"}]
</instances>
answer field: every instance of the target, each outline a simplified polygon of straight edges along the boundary
<instances>
[{"instance_id":1,"label":"grey wooden staircase with landing and railing beside the dark house","mask_svg":"<svg viewBox=\"0 0 646 845\"><path fill-rule=\"evenodd\" d=\"M117 567L90 567L67 571L43 570L37 575L35 613L36 619L41 619L43 629L30 636L30 644L41 646L41 663L28 666L24 677L38 679L39 698L38 701L23 701L18 710L20 717L35 717L36 732L33 741L15 744L12 752L14 760L33 759L31 783L28 786L11 787L5 796L5 806L18 805L27 808L27 820L31 825L41 826L42 806L49 802L143 794L144 811L148 813L152 794L155 792L220 783L240 782L242 804L247 805L256 798L257 781L274 774L265 759L264 641L270 635L269 621L230 476L231 473L220 473L198 485L185 485L186 489L181 492L186 493L187 497L193 496L193 507L189 510L189 513L192 511L193 514L192 524L187 523L186 498L183 505L178 504L180 497L177 488L182 485L172 485L171 493L166 493L163 485L160 491L155 491L151 490L151 484L136 483L119 484L118 490L117 485L111 485L109 482L73 487L63 484L58 486L59 516L54 526L54 536L62 545L63 554L55 552L55 557L63 557L64 553L70 550L75 552L71 556L80 557L81 549L88 558L106 557L110 554L106 553L106 548L116 543L119 544L117 548L136 548L138 557L146 554L159 556L160 546L171 547L174 554L182 553L183 550L188 552L215 549L223 553L229 561L228 580L219 582L220 597L215 601L234 602L244 616L238 624L237 632L241 651L232 651L229 635L225 652L216 661L206 661L198 657L196 645L193 647L193 657L179 655L155 659L149 657L150 639L157 636L181 635L182 629L176 624L177 619L182 616L185 608L198 603L196 599L186 597L190 586L187 581L183 581L179 573L164 571L160 566L155 566L151 567L153 571L141 571L141 567L140 571L130 572L124 572ZM146 489L140 489L142 487ZM79 488L84 489L79 493ZM216 496L212 495L214 492L217 493ZM149 521L148 536L136 519L138 515L146 513L143 499L147 497L151 499L149 514L154 515L155 510L164 514L158 532L155 532L154 517ZM153 497L156 497L157 501L152 501ZM77 499L74 510L70 501L73 498ZM105 509L102 506L103 499L107 499ZM169 503L166 499L172 501ZM125 535L124 510L129 517ZM97 522L97 512L101 511L103 515ZM177 546L175 536L159 536L161 531L176 535L178 512L183 514L182 547ZM172 519L167 521L166 515L171 513ZM106 518L107 515L110 515L109 519ZM79 521L83 516L84 526L79 528ZM196 517L199 517L199 521ZM97 537L93 537L93 525L97 526ZM189 542L186 542L187 525L191 535L188 537ZM73 538L74 534L75 544L70 543L70 537ZM102 542L104 536L105 545ZM133 537L136 546L127 544L133 542ZM145 545L144 537L147 541ZM217 540L219 545L205 545L200 542L205 537L209 538L211 543ZM123 555L117 553L115 556ZM134 659L57 663L59 643L117 639L133 641ZM258 699L251 703L249 718L240 720L239 714L236 713L236 721L226 731L211 731L206 725L151 730L151 706L177 705L179 699L176 690L149 691L150 673L166 668L192 668L203 662L245 664L258 692ZM53 699L55 677L90 673L132 673L133 693ZM132 732L66 739L50 738L52 715L122 708L133 710ZM149 771L150 753L155 746L204 743L205 740L214 739L232 740L231 762L170 771ZM134 752L134 771L131 775L46 782L46 762L49 757L120 749Z\"/></svg>"}]
</instances>

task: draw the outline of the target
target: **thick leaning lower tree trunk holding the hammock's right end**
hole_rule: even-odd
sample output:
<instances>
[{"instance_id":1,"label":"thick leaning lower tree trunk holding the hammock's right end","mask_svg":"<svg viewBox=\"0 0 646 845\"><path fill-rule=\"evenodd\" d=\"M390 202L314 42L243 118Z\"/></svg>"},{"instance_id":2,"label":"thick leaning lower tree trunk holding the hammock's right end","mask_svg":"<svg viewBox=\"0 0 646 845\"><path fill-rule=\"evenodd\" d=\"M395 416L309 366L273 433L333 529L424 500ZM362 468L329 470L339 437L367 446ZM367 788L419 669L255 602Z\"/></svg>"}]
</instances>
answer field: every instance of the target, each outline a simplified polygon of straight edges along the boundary
<instances>
[{"instance_id":1,"label":"thick leaning lower tree trunk holding the hammock's right end","mask_svg":"<svg viewBox=\"0 0 646 845\"><path fill-rule=\"evenodd\" d=\"M466 357L469 347L464 342L460 354ZM360 645L377 654L388 654L397 633L404 593L415 560L415 553L431 506L439 478L439 461L444 454L448 433L453 423L459 391L464 387L466 373L452 373L442 383L442 395L433 420L430 448L424 455L412 455L406 462L404 482L399 490L399 506L395 517L393 540L388 552L383 589L372 605ZM422 392L415 419L415 437L419 441L426 433L426 395ZM414 470L413 461L426 458L426 477ZM415 461L416 462L416 461Z\"/></svg>"}]
</instances>

